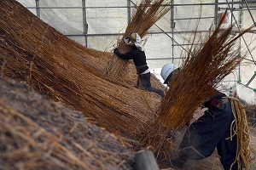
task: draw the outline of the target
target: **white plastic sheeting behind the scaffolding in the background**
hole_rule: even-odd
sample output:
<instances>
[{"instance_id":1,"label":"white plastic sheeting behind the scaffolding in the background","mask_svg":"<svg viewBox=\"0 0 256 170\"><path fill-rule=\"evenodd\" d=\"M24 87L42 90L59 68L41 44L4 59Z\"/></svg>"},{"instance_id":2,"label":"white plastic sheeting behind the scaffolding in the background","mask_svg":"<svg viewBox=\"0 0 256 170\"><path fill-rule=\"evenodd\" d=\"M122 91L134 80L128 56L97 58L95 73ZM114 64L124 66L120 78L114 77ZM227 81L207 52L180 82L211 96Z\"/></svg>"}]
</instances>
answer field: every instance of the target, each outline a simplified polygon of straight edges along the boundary
<instances>
[{"instance_id":1,"label":"white plastic sheeting behind the scaffolding in the background","mask_svg":"<svg viewBox=\"0 0 256 170\"><path fill-rule=\"evenodd\" d=\"M116 47L119 38L125 32L132 11L140 3L139 0L18 0L18 2L67 37L88 48L101 51L112 51ZM167 62L180 65L181 58L186 56L186 50L195 35L194 31L197 30L198 38L207 35L207 31L216 26L216 17L226 8L234 10L232 12L228 10L229 20L224 26L230 26L232 22L236 26L235 31L252 26L253 18L256 16L256 5L254 10L250 10L246 8L247 4L241 4L239 0L175 0L173 3L174 8L152 26L148 35L143 38L148 66L161 81L160 68ZM249 3L249 6L253 8L253 3ZM253 78L256 71L253 59L255 56L253 48L256 46L254 39L255 32L247 33L237 42L236 48L241 48L241 54L247 53L247 59L221 84L224 93L229 94L229 89L232 87L234 93L237 90L241 99L253 105L256 104L253 91L256 88L256 79Z\"/></svg>"}]
</instances>

